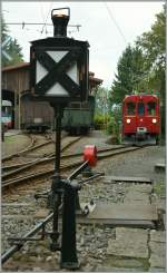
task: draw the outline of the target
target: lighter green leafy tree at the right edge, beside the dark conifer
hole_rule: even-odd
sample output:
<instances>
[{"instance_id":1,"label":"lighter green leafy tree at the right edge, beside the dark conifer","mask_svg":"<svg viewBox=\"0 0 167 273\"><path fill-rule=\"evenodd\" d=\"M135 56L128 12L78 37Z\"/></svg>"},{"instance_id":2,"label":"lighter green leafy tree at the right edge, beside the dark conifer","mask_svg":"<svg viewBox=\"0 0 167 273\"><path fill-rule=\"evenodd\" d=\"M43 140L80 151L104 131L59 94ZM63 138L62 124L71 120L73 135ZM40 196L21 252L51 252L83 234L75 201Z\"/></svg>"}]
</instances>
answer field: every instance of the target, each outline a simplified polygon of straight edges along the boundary
<instances>
[{"instance_id":1,"label":"lighter green leafy tree at the right edge, beside the dark conifer","mask_svg":"<svg viewBox=\"0 0 167 273\"><path fill-rule=\"evenodd\" d=\"M147 82L144 85L148 88L159 90L161 104L161 130L165 134L165 49L166 49L166 6L160 13L156 14L156 21L153 23L150 31L144 32L138 37L136 45L143 50L145 56Z\"/></svg>"}]
</instances>

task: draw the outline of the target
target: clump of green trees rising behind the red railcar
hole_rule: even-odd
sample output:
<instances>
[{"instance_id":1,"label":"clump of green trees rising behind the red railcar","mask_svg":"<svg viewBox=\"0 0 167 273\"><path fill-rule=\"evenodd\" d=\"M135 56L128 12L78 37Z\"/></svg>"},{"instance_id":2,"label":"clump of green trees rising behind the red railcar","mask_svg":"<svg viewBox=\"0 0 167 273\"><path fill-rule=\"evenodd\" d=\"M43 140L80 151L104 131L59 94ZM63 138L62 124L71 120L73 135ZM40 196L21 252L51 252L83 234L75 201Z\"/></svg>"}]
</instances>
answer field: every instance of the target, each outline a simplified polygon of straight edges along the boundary
<instances>
[{"instance_id":1,"label":"clump of green trees rising behind the red railcar","mask_svg":"<svg viewBox=\"0 0 167 273\"><path fill-rule=\"evenodd\" d=\"M132 90L159 91L161 131L165 134L165 49L166 6L156 14L149 31L128 46L118 60L116 79L111 85L110 104L119 104Z\"/></svg>"}]
</instances>

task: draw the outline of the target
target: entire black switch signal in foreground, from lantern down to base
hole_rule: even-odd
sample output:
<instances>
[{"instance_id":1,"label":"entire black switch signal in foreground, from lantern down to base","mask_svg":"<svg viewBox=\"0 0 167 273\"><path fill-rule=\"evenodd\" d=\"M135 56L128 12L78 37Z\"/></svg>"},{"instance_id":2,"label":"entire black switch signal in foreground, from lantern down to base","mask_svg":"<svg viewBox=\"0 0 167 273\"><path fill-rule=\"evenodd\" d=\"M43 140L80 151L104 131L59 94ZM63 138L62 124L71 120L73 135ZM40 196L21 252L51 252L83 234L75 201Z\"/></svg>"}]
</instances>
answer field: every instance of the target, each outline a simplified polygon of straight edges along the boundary
<instances>
[{"instance_id":1,"label":"entire black switch signal in foreground, from lantern down to base","mask_svg":"<svg viewBox=\"0 0 167 273\"><path fill-rule=\"evenodd\" d=\"M67 37L69 8L53 9L53 37L32 41L30 49L30 86L38 100L53 107L56 119L56 163L51 185L52 243L61 251L61 267L78 269L76 250L76 199L80 186L72 185L60 174L61 118L69 101L85 101L88 96L89 43ZM86 164L88 165L88 164ZM86 166L85 165L85 166ZM58 214L62 203L62 236L59 242Z\"/></svg>"}]
</instances>

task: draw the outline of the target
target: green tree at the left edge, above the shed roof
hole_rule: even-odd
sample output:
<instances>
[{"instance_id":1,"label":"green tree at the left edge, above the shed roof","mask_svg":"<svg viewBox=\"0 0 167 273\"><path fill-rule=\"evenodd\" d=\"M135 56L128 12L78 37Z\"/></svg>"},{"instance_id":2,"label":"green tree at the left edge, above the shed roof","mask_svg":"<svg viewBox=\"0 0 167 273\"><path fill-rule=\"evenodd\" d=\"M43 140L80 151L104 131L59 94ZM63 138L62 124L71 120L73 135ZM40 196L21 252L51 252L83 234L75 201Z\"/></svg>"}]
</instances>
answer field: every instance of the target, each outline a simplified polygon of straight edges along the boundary
<instances>
[{"instance_id":1,"label":"green tree at the left edge, above the shed roof","mask_svg":"<svg viewBox=\"0 0 167 273\"><path fill-rule=\"evenodd\" d=\"M9 29L4 22L3 17L1 17L1 43L2 43L2 67L17 65L23 61L23 55L21 52L22 48L19 46L17 39L13 39L9 35ZM3 53L4 51L4 53ZM10 58L8 58L8 56Z\"/></svg>"}]
</instances>

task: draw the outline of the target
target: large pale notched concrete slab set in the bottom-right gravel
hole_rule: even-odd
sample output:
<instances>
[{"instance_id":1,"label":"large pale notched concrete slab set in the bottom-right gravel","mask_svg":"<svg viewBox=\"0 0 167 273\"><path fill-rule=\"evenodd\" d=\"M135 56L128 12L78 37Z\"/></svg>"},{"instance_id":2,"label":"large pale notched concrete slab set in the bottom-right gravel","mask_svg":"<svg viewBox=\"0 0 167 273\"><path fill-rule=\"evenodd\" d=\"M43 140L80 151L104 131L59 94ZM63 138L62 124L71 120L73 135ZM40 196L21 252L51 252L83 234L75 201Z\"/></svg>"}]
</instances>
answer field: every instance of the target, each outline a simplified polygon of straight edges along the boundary
<instances>
[{"instance_id":1,"label":"large pale notched concrete slab set in the bottom-right gravel","mask_svg":"<svg viewBox=\"0 0 167 273\"><path fill-rule=\"evenodd\" d=\"M116 240L108 241L107 254L148 259L148 231L140 228L116 228Z\"/></svg>"}]
</instances>

